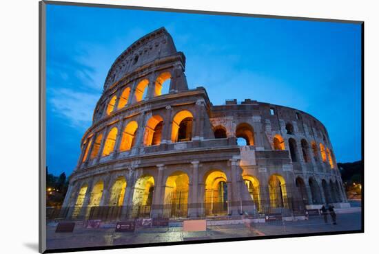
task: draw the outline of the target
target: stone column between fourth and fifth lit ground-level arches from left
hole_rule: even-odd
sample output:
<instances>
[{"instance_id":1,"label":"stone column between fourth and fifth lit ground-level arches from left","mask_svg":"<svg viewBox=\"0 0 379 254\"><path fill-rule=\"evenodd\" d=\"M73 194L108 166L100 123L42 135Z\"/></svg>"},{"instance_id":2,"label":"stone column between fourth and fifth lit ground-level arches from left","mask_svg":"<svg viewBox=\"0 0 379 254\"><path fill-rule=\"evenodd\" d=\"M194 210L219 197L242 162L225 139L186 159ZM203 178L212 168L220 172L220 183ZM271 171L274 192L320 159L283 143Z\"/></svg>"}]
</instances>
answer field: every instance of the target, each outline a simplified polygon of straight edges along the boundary
<instances>
[{"instance_id":1,"label":"stone column between fourth and fifth lit ground-level arches from left","mask_svg":"<svg viewBox=\"0 0 379 254\"><path fill-rule=\"evenodd\" d=\"M163 203L164 203L164 189L163 189L163 174L165 170L164 164L156 165L158 168L158 177L156 178L156 185L154 186L154 194L152 200L152 218L159 218L163 216Z\"/></svg>"}]
</instances>

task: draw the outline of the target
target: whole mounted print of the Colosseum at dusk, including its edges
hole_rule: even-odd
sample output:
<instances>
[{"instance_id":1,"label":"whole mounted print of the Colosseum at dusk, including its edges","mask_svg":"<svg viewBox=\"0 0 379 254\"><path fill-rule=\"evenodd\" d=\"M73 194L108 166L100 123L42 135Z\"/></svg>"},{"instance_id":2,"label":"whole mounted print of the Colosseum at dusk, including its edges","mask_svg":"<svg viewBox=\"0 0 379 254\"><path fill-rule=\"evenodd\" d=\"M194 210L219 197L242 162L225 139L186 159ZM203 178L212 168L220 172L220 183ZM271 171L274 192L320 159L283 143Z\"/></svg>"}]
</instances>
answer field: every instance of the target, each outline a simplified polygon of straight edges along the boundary
<instances>
[{"instance_id":1,"label":"whole mounted print of the Colosseum at dusk, including its edges","mask_svg":"<svg viewBox=\"0 0 379 254\"><path fill-rule=\"evenodd\" d=\"M39 14L41 253L364 231L362 21Z\"/></svg>"}]
</instances>

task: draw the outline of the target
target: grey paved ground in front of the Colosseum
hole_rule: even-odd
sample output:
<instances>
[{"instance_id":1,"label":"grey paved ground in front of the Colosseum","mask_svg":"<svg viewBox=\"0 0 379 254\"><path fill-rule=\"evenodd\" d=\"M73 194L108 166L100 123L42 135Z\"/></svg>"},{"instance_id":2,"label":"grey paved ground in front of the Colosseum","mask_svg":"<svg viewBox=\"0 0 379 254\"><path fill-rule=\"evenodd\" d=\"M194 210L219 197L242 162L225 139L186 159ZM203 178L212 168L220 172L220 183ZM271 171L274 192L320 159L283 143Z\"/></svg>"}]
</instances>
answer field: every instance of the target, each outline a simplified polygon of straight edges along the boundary
<instances>
[{"instance_id":1,"label":"grey paved ground in front of the Colosseum","mask_svg":"<svg viewBox=\"0 0 379 254\"><path fill-rule=\"evenodd\" d=\"M153 242L181 242L222 238L244 238L258 235L283 235L294 233L318 233L360 229L361 213L338 214L338 224L325 224L320 217L296 222L267 222L209 226L203 232L183 232L182 227L154 227L136 229L133 233L115 233L114 227L84 229L76 225L73 233L55 233L55 226L48 226L48 249L64 249L119 244L143 244Z\"/></svg>"}]
</instances>

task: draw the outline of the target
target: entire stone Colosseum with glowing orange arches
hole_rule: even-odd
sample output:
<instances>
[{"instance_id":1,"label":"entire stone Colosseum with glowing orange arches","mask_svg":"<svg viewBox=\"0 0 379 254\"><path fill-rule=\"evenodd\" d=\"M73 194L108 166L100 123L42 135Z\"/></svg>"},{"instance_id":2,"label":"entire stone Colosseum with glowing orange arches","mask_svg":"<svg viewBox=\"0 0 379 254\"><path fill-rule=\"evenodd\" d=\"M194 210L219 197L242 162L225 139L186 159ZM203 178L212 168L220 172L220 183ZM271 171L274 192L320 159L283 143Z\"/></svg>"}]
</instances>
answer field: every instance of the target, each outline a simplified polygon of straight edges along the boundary
<instances>
[{"instance_id":1,"label":"entire stone Colosseum with glowing orange arches","mask_svg":"<svg viewBox=\"0 0 379 254\"><path fill-rule=\"evenodd\" d=\"M213 105L164 27L116 58L63 203L67 218L287 216L348 207L327 130L295 108Z\"/></svg>"}]
</instances>

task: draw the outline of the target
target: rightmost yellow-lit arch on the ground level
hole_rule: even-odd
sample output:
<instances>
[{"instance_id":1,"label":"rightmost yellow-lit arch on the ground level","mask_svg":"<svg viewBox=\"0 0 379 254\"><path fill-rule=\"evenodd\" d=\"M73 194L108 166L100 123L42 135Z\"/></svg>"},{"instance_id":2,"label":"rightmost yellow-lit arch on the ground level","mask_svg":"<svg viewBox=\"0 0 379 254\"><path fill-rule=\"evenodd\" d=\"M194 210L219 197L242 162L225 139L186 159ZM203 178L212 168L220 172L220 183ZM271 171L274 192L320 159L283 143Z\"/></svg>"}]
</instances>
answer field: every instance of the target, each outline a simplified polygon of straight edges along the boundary
<instances>
[{"instance_id":1,"label":"rightmost yellow-lit arch on the ground level","mask_svg":"<svg viewBox=\"0 0 379 254\"><path fill-rule=\"evenodd\" d=\"M272 174L269 177L269 199L272 208L288 208L287 189L283 176Z\"/></svg>"}]
</instances>

